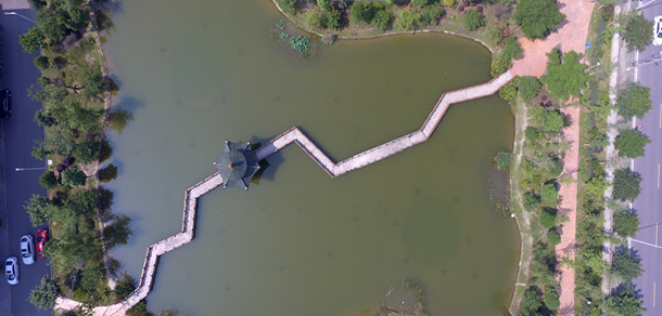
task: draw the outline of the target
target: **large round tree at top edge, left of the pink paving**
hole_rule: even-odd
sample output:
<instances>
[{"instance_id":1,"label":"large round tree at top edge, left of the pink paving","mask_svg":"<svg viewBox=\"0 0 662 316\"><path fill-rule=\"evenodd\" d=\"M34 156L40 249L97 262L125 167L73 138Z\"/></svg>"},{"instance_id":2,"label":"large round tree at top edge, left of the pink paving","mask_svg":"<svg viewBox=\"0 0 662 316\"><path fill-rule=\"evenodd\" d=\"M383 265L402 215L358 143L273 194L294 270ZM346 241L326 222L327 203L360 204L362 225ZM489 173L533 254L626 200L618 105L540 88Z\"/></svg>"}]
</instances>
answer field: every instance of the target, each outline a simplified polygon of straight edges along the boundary
<instances>
[{"instance_id":1,"label":"large round tree at top edge, left of the pink paving","mask_svg":"<svg viewBox=\"0 0 662 316\"><path fill-rule=\"evenodd\" d=\"M557 0L521 0L513 17L527 38L536 39L556 29L565 15L559 12Z\"/></svg>"}]
</instances>

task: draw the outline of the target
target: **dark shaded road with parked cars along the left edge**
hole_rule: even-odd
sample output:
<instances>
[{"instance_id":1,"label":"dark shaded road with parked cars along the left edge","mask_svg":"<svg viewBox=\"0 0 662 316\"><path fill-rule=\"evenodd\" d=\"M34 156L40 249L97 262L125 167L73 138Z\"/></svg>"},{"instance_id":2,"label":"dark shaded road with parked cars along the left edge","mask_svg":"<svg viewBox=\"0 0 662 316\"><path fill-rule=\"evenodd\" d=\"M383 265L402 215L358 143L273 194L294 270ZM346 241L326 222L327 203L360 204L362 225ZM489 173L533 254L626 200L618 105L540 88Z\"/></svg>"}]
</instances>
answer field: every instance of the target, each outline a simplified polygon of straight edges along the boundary
<instances>
[{"instance_id":1,"label":"dark shaded road with parked cars along the left edge","mask_svg":"<svg viewBox=\"0 0 662 316\"><path fill-rule=\"evenodd\" d=\"M17 13L34 18L29 10L17 10ZM0 192L0 210L2 214L2 228L0 234L4 240L0 247L0 260L4 263L9 255L21 256L20 239L22 235L31 234L36 237L38 228L34 228L27 213L23 210L25 201L34 194L46 194L46 189L39 186L38 179L42 171L15 171L16 168L43 167L44 162L36 160L31 155L34 140L43 140L43 129L34 120L35 111L41 108L41 104L31 101L27 96L26 89L39 77L33 60L37 53L26 54L18 44L18 35L24 34L33 26L33 23L16 15L4 15L0 13L0 65L2 79L0 89L9 89L12 92L13 114L9 119L0 120L2 132L2 175L4 190ZM4 205L7 206L4 208ZM9 238L8 238L9 237ZM4 241L3 240L3 241ZM39 284L41 277L50 273L50 266L46 259L39 258L34 265L26 266L20 263L21 281L17 286L9 286L2 280L0 297L4 297L4 303L0 302L0 315L52 315L51 311L38 311L27 302L30 290ZM11 314L7 306L7 293L11 298Z\"/></svg>"}]
</instances>

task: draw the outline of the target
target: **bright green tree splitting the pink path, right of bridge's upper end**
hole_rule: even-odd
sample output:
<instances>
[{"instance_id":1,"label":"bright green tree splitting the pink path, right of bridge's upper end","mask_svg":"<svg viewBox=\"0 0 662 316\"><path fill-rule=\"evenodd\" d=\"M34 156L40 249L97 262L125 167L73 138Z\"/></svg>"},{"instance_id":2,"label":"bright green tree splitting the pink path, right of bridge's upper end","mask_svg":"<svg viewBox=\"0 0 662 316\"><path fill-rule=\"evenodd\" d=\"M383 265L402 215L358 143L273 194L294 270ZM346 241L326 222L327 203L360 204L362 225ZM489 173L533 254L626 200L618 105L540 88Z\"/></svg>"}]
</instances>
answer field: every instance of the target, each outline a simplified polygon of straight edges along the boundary
<instances>
[{"instance_id":1,"label":"bright green tree splitting the pink path, right of bridge's upper end","mask_svg":"<svg viewBox=\"0 0 662 316\"><path fill-rule=\"evenodd\" d=\"M555 48L547 54L547 74L540 76L547 90L563 101L568 101L570 95L578 97L580 90L590 81L590 75L584 71L586 64L580 63L582 54L571 51L561 58L559 49Z\"/></svg>"}]
</instances>

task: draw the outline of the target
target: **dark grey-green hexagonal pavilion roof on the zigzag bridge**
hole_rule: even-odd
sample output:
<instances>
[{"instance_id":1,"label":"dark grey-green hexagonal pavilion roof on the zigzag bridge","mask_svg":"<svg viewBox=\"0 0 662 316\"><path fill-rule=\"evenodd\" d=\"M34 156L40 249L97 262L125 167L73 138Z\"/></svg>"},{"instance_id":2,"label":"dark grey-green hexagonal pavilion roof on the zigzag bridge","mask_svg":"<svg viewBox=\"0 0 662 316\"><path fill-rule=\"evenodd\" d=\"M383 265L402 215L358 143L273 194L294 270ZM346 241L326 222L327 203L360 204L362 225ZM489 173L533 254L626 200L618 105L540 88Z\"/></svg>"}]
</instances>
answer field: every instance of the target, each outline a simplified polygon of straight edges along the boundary
<instances>
[{"instance_id":1,"label":"dark grey-green hexagonal pavilion roof on the zigzag bridge","mask_svg":"<svg viewBox=\"0 0 662 316\"><path fill-rule=\"evenodd\" d=\"M257 157L251 149L251 142L232 143L226 141L220 157L214 161L220 172L222 188L240 186L249 189L251 179L259 169Z\"/></svg>"}]
</instances>

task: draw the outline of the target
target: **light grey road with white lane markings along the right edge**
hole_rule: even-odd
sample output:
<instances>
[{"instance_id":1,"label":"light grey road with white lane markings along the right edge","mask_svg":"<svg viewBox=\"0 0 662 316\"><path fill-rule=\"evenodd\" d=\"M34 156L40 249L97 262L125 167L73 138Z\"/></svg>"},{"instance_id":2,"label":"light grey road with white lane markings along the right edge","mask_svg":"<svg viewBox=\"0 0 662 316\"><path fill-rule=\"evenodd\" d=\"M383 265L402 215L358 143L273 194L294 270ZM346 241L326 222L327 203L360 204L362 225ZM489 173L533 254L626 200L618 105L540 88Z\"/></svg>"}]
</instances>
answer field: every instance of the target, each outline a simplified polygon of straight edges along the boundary
<instances>
[{"instance_id":1,"label":"light grey road with white lane markings along the right edge","mask_svg":"<svg viewBox=\"0 0 662 316\"><path fill-rule=\"evenodd\" d=\"M653 19L662 15L662 1L648 9L644 15ZM639 60L660 57L662 45L649 45L646 51L639 52ZM662 163L662 63L640 66L635 80L645 87L651 88L652 109L641 120L642 132L651 139L646 146L646 156L635 159L636 172L641 174L641 194L633 203L639 215L639 233L636 239L652 245L659 245L662 235L662 187L660 168ZM660 223L661 225L658 225ZM662 248L632 242L634 251L641 256L644 275L635 280L636 289L640 290L644 306L648 310L645 316L662 315ZM658 286L660 284L660 286Z\"/></svg>"}]
</instances>

